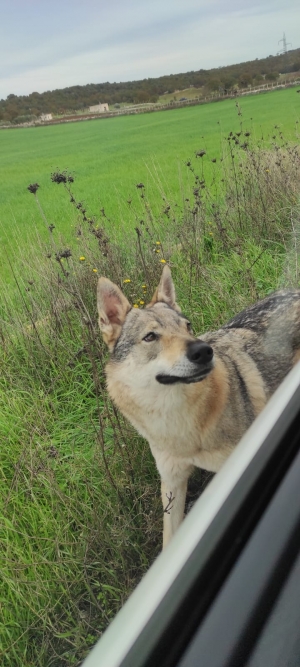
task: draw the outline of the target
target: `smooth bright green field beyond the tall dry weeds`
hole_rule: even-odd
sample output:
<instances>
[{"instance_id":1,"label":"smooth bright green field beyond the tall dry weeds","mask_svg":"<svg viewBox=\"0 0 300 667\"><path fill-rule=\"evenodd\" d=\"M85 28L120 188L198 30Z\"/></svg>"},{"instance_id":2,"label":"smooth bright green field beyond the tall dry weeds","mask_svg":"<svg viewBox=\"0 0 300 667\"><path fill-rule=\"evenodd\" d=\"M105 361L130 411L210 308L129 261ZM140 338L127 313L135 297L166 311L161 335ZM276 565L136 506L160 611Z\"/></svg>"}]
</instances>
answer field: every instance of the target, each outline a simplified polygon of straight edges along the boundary
<instances>
[{"instance_id":1,"label":"smooth bright green field beyond the tall dry weeds","mask_svg":"<svg viewBox=\"0 0 300 667\"><path fill-rule=\"evenodd\" d=\"M267 140L274 126L294 138L299 118L295 89L243 98L236 102L175 109L121 118L70 123L59 126L2 130L0 132L0 262L8 279L6 252L26 247L38 230L45 234L29 183L41 186L39 198L47 220L70 239L76 216L63 193L50 182L57 168L76 176L76 194L93 214L104 206L114 226L123 229L130 220L126 201L138 200L136 183L143 182L152 205L161 208L161 191L180 200L189 174L184 162L205 149L206 177L213 174L211 159L218 158L222 141L230 131L243 128L255 140Z\"/></svg>"}]
</instances>

